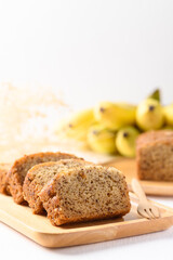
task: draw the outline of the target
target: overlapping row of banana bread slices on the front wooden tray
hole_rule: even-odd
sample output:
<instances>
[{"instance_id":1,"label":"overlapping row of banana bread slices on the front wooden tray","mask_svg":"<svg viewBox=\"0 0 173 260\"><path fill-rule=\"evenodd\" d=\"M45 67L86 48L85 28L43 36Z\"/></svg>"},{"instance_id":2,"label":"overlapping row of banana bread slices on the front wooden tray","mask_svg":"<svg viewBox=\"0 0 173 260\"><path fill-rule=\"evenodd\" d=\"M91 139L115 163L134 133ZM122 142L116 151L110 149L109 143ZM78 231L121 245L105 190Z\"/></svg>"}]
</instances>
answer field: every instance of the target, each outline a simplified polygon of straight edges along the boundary
<instances>
[{"instance_id":1,"label":"overlapping row of banana bread slices on the front wooden tray","mask_svg":"<svg viewBox=\"0 0 173 260\"><path fill-rule=\"evenodd\" d=\"M62 153L27 155L8 167L5 188L14 202L27 202L34 213L46 212L54 225L108 219L130 211L125 178L114 167ZM4 179L1 172L0 168L0 186Z\"/></svg>"}]
</instances>

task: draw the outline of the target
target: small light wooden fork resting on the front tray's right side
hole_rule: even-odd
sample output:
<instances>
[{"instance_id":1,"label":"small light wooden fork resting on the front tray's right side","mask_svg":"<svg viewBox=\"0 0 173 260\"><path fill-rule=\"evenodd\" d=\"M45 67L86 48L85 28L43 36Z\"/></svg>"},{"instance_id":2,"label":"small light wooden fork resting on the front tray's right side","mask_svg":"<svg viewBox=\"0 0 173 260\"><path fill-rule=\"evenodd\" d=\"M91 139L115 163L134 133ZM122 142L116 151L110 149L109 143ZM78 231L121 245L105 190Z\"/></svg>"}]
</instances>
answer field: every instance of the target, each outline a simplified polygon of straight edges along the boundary
<instances>
[{"instance_id":1,"label":"small light wooden fork resting on the front tray's right side","mask_svg":"<svg viewBox=\"0 0 173 260\"><path fill-rule=\"evenodd\" d=\"M139 182L136 179L132 179L132 190L139 199L137 207L138 214L146 219L158 219L160 217L159 209L148 202Z\"/></svg>"}]
</instances>

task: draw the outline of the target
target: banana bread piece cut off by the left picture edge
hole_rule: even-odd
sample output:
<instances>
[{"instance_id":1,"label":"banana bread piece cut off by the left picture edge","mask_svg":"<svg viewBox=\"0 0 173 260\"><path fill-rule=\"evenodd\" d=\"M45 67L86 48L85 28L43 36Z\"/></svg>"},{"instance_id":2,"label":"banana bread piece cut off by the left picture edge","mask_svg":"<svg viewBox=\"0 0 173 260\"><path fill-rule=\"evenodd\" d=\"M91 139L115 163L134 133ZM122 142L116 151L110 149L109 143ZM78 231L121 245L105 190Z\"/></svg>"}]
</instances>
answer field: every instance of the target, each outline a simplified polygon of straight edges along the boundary
<instances>
[{"instance_id":1,"label":"banana bread piece cut off by the left picture edge","mask_svg":"<svg viewBox=\"0 0 173 260\"><path fill-rule=\"evenodd\" d=\"M9 171L11 164L0 164L0 193L10 195L9 183Z\"/></svg>"}]
</instances>

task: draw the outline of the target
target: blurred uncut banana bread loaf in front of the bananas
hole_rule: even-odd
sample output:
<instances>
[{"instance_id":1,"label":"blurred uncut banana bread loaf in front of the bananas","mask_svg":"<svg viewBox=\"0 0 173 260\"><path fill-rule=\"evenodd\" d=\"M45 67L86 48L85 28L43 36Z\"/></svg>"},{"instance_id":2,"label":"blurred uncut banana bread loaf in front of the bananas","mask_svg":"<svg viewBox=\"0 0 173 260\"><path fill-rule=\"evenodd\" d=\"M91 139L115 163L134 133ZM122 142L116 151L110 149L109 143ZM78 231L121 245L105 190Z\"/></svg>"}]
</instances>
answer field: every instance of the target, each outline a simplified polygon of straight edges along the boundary
<instances>
[{"instance_id":1,"label":"blurred uncut banana bread loaf in front of the bananas","mask_svg":"<svg viewBox=\"0 0 173 260\"><path fill-rule=\"evenodd\" d=\"M141 134L136 143L136 165L141 180L173 181L173 131Z\"/></svg>"}]
</instances>

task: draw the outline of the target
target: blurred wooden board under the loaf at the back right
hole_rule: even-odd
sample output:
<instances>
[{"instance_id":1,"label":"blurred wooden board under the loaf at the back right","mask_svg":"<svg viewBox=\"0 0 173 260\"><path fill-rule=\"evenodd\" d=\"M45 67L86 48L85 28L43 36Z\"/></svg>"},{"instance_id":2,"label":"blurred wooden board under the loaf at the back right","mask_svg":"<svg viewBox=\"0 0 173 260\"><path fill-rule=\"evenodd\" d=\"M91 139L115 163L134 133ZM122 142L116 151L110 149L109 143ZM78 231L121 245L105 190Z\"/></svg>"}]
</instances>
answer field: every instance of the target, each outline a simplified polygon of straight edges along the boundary
<instances>
[{"instance_id":1,"label":"blurred wooden board under the loaf at the back right","mask_svg":"<svg viewBox=\"0 0 173 260\"><path fill-rule=\"evenodd\" d=\"M121 170L129 184L130 191L131 181L133 178L137 178L135 159L127 158L116 158L110 162L104 164L106 166L114 166ZM173 196L173 182L156 182L156 181L139 181L145 193L148 195L159 195L159 196Z\"/></svg>"}]
</instances>

